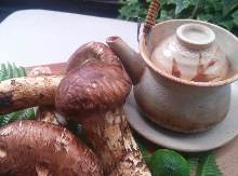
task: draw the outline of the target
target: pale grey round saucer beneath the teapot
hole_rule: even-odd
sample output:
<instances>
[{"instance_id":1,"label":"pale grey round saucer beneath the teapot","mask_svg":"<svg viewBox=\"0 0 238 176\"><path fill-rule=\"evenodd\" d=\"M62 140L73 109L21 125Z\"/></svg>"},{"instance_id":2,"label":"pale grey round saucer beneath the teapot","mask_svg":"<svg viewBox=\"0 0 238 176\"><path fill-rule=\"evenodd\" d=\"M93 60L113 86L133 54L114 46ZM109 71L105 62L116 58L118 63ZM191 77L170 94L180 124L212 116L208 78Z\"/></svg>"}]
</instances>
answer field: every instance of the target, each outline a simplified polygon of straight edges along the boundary
<instances>
[{"instance_id":1,"label":"pale grey round saucer beneath the teapot","mask_svg":"<svg viewBox=\"0 0 238 176\"><path fill-rule=\"evenodd\" d=\"M132 93L124 110L131 126L148 140L180 151L207 151L227 144L238 135L238 84L232 85L232 104L225 120L203 133L181 134L159 127L142 116Z\"/></svg>"}]
</instances>

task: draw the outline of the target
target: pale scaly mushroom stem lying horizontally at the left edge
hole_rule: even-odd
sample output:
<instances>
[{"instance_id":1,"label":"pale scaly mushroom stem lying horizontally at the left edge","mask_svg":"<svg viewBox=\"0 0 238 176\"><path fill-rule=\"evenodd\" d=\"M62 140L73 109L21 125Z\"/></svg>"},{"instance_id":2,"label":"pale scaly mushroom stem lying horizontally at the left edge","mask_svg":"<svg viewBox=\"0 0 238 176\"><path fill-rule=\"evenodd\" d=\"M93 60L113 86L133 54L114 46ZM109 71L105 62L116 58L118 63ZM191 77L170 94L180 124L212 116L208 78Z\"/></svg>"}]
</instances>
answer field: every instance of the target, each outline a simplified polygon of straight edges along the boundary
<instances>
[{"instance_id":1,"label":"pale scaly mushroom stem lying horizontally at the left edge","mask_svg":"<svg viewBox=\"0 0 238 176\"><path fill-rule=\"evenodd\" d=\"M0 82L0 114L40 105L54 105L63 76L14 78Z\"/></svg>"}]
</instances>

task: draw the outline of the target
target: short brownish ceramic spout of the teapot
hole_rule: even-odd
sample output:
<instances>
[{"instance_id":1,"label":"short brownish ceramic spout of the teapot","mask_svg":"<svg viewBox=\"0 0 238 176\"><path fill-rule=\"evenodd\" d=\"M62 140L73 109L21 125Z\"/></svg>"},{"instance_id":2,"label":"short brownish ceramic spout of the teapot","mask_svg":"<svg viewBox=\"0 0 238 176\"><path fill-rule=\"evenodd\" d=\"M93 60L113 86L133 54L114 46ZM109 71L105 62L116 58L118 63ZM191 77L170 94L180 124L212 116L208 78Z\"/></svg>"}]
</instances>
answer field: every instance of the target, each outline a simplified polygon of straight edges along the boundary
<instances>
[{"instance_id":1,"label":"short brownish ceramic spout of the teapot","mask_svg":"<svg viewBox=\"0 0 238 176\"><path fill-rule=\"evenodd\" d=\"M145 63L141 55L131 49L120 37L108 37L106 42L120 58L133 84L136 84L145 68Z\"/></svg>"}]
</instances>

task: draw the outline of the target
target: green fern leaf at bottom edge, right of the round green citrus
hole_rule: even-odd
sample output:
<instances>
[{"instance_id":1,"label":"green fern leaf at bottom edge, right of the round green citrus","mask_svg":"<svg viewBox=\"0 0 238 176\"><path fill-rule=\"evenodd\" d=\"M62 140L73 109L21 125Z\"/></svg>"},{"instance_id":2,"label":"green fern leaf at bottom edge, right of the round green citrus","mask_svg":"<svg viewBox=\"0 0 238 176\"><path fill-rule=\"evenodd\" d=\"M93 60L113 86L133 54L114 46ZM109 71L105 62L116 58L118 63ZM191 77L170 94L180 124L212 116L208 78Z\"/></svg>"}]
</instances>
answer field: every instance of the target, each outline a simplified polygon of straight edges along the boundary
<instances>
[{"instance_id":1,"label":"green fern leaf at bottom edge, right of the round green citrus","mask_svg":"<svg viewBox=\"0 0 238 176\"><path fill-rule=\"evenodd\" d=\"M222 176L213 154L204 155L200 160L196 176Z\"/></svg>"}]
</instances>

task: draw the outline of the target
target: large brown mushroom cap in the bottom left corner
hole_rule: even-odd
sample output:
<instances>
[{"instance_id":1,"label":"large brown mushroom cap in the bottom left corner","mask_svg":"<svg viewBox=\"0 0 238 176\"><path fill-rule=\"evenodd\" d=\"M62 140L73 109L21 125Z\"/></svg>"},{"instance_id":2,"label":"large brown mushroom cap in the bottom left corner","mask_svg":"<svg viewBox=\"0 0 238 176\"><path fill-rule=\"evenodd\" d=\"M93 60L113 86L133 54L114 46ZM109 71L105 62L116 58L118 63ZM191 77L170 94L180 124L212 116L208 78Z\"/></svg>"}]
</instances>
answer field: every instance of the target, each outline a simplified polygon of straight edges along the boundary
<instances>
[{"instance_id":1,"label":"large brown mushroom cap in the bottom left corner","mask_svg":"<svg viewBox=\"0 0 238 176\"><path fill-rule=\"evenodd\" d=\"M97 158L66 128L17 121L0 128L0 175L103 175Z\"/></svg>"}]
</instances>

